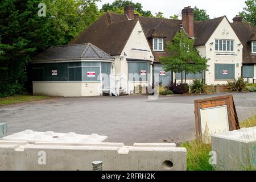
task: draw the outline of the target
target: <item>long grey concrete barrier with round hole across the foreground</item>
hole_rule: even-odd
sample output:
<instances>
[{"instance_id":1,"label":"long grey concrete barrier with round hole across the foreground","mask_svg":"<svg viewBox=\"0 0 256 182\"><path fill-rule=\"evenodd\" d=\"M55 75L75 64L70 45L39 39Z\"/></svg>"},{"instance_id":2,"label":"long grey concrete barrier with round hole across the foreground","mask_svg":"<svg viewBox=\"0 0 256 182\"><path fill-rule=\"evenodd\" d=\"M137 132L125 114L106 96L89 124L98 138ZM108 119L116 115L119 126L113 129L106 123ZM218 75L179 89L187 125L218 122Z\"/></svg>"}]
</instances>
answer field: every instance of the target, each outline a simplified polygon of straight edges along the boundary
<instances>
[{"instance_id":1,"label":"long grey concrete barrier with round hole across the foreground","mask_svg":"<svg viewBox=\"0 0 256 182\"><path fill-rule=\"evenodd\" d=\"M9 147L8 147L9 146ZM148 147L150 146L150 147ZM0 170L186 170L187 150L161 144L0 142Z\"/></svg>"}]
</instances>

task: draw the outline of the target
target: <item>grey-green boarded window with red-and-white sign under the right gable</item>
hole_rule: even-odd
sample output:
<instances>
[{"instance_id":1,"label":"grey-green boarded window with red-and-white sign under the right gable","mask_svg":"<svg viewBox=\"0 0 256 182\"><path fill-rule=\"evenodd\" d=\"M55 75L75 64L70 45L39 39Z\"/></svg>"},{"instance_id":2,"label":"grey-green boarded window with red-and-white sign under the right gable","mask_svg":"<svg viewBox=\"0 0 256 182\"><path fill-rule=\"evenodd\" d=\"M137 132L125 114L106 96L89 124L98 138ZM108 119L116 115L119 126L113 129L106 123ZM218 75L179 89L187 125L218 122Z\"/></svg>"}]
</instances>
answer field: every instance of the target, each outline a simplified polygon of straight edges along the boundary
<instances>
[{"instance_id":1,"label":"grey-green boarded window with red-and-white sign under the right gable","mask_svg":"<svg viewBox=\"0 0 256 182\"><path fill-rule=\"evenodd\" d=\"M214 64L215 80L234 79L235 64Z\"/></svg>"}]
</instances>

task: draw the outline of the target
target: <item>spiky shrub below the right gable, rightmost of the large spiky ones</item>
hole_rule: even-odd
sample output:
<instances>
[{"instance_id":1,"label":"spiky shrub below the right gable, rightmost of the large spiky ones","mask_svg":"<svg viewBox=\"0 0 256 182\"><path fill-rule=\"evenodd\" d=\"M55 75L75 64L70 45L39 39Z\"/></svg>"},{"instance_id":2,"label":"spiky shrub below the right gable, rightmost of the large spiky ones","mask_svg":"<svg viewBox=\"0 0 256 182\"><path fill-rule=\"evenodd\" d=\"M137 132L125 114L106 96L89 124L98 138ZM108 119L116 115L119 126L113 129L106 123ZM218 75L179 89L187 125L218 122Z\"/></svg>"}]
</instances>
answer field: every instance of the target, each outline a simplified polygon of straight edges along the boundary
<instances>
[{"instance_id":1,"label":"spiky shrub below the right gable, rightmost of the large spiky ones","mask_svg":"<svg viewBox=\"0 0 256 182\"><path fill-rule=\"evenodd\" d=\"M247 82L243 79L243 77L238 77L237 79L228 81L228 91L229 92L244 92L246 91Z\"/></svg>"}]
</instances>

